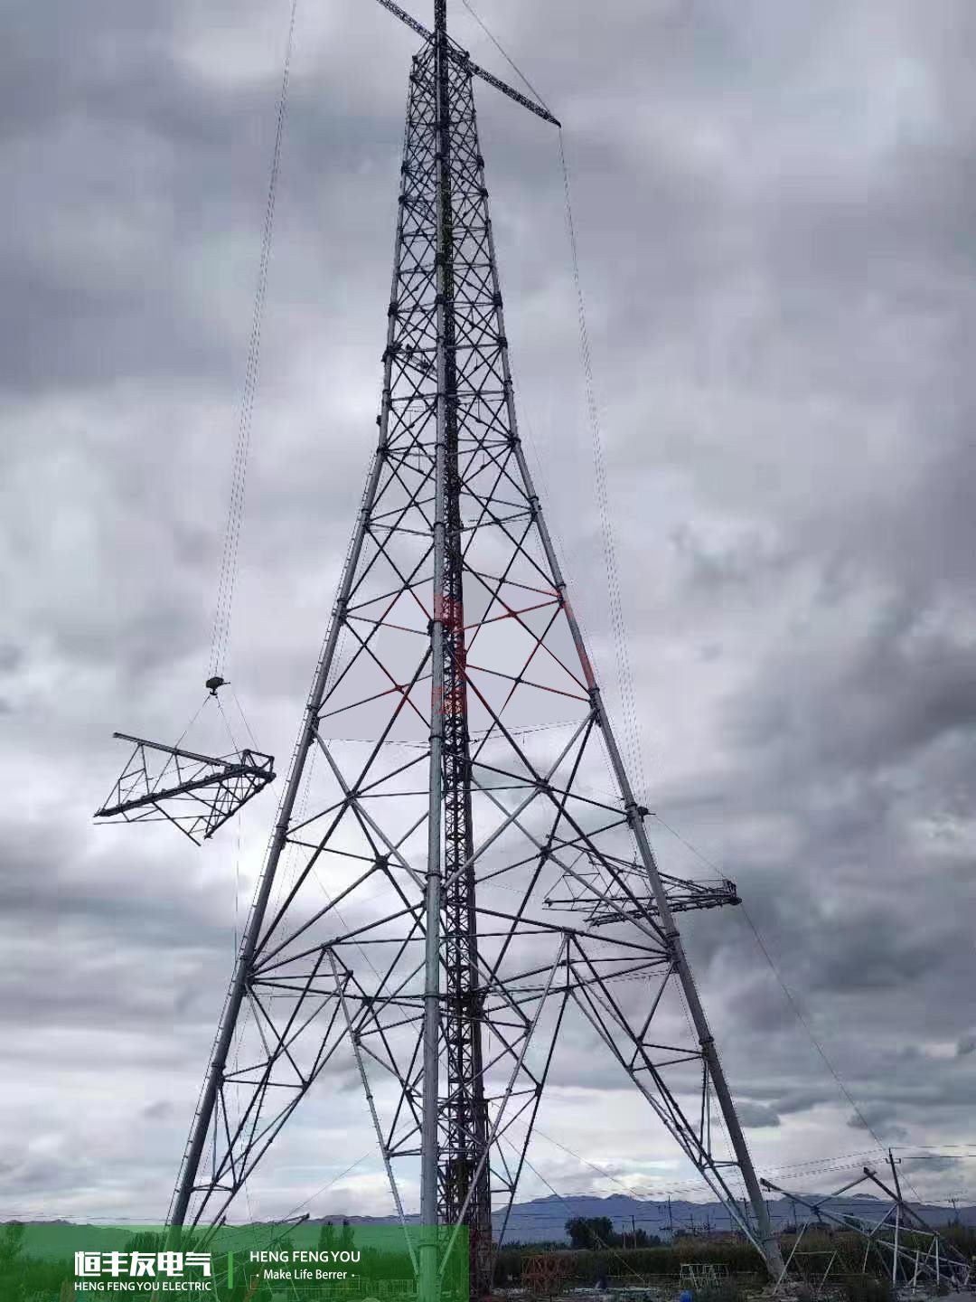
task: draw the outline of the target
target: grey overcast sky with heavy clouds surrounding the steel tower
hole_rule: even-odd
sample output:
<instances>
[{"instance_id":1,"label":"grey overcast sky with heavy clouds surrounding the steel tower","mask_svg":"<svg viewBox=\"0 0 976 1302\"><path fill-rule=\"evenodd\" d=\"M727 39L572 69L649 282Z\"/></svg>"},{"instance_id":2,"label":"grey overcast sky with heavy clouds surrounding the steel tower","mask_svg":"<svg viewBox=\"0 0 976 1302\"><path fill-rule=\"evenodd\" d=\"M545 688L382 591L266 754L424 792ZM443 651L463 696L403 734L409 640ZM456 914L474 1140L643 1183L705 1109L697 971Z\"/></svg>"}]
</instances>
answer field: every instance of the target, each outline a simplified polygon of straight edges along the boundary
<instances>
[{"instance_id":1,"label":"grey overcast sky with heavy clouds surrounding the steel tower","mask_svg":"<svg viewBox=\"0 0 976 1302\"><path fill-rule=\"evenodd\" d=\"M701 915L756 1163L976 1141L976 9L478 8L566 126L644 797L738 881L873 1131L742 913ZM197 850L91 811L112 730L174 740L203 695L288 9L0 17L3 1216L164 1215L273 818ZM280 767L376 432L415 46L373 0L299 0L228 674ZM558 139L476 95L519 409L616 704ZM566 1055L547 1180L686 1182ZM255 1211L385 1212L375 1154L336 1180L371 1147L358 1092L320 1100ZM973 1174L911 1178L976 1202Z\"/></svg>"}]
</instances>

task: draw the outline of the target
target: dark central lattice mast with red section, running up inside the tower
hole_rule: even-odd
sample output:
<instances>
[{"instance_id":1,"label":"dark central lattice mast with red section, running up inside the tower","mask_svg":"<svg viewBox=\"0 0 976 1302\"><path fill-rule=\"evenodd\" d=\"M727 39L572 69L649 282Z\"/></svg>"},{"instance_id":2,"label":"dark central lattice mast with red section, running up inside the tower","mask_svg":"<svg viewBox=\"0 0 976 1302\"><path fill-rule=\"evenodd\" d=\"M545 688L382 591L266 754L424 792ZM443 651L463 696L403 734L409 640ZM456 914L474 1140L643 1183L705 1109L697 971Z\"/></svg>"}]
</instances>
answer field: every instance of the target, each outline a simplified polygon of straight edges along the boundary
<instances>
[{"instance_id":1,"label":"dark central lattice mast with red section, running up inside the tower","mask_svg":"<svg viewBox=\"0 0 976 1302\"><path fill-rule=\"evenodd\" d=\"M465 682L465 594L458 448L458 358L452 199L452 65L446 0L435 0L433 89L437 217L437 441L435 450L431 762L426 884L422 1269L436 1262L435 1228L468 1226L472 1297L491 1286L491 1189L475 918L471 756ZM442 842L441 842L442 828ZM442 888L441 878L446 881ZM442 928L442 932L441 932ZM444 988L441 988L441 971ZM444 1098L440 1036L446 1046ZM472 1187L474 1184L474 1187ZM433 1297L429 1282L426 1297Z\"/></svg>"}]
</instances>

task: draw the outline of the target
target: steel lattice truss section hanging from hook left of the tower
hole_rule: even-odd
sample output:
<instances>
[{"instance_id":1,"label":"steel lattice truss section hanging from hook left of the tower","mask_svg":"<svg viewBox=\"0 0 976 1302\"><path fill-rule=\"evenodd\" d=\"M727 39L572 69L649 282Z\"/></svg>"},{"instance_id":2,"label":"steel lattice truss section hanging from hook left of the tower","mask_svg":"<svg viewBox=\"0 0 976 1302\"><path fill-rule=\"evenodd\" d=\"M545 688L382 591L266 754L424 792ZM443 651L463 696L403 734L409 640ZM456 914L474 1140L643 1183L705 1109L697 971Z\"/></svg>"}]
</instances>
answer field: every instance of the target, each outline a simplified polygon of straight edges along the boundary
<instances>
[{"instance_id":1,"label":"steel lattice truss section hanging from hook left of the tower","mask_svg":"<svg viewBox=\"0 0 976 1302\"><path fill-rule=\"evenodd\" d=\"M199 755L128 733L112 736L133 742L134 750L95 818L165 819L199 845L275 780L273 755L258 750Z\"/></svg>"}]
</instances>

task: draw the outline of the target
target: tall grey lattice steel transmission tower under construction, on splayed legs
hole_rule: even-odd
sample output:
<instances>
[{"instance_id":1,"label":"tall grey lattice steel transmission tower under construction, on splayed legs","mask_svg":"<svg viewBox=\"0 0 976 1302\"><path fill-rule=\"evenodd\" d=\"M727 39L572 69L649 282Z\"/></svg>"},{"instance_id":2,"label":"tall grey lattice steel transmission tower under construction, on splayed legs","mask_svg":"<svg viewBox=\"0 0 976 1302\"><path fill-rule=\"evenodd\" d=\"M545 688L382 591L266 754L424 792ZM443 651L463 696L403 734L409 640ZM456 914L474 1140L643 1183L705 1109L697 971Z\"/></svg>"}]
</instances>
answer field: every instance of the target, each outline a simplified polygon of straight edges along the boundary
<instances>
[{"instance_id":1,"label":"tall grey lattice steel transmission tower under construction, on splayed legs","mask_svg":"<svg viewBox=\"0 0 976 1302\"><path fill-rule=\"evenodd\" d=\"M401 1217L419 1182L441 1228L420 1295L465 1225L484 1297L563 1031L630 1077L778 1273L674 921L735 889L657 868L519 441L472 77L554 118L452 42L445 0L432 31L381 3L423 46L379 440L169 1223L226 1216L345 1070Z\"/></svg>"}]
</instances>

